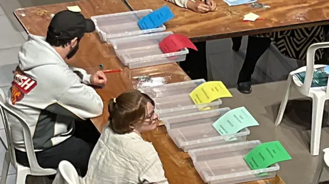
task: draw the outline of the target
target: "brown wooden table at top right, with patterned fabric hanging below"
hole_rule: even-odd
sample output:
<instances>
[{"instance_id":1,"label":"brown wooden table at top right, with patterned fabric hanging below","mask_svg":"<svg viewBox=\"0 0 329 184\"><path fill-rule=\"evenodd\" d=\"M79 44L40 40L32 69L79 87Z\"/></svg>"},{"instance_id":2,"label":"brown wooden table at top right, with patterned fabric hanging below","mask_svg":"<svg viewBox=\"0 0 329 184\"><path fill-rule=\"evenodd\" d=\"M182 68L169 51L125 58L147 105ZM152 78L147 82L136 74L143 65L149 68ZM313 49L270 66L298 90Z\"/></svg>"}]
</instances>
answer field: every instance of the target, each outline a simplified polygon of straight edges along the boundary
<instances>
[{"instance_id":1,"label":"brown wooden table at top right, with patterned fabric hanging below","mask_svg":"<svg viewBox=\"0 0 329 184\"><path fill-rule=\"evenodd\" d=\"M206 14L194 13L164 0L124 1L133 10L156 10L168 5L175 17L165 24L167 31L184 34L193 42L329 24L327 0L259 0L270 6L267 9L252 9L249 5L229 7L223 0L214 0L218 11ZM243 15L250 12L265 20L242 22Z\"/></svg>"}]
</instances>

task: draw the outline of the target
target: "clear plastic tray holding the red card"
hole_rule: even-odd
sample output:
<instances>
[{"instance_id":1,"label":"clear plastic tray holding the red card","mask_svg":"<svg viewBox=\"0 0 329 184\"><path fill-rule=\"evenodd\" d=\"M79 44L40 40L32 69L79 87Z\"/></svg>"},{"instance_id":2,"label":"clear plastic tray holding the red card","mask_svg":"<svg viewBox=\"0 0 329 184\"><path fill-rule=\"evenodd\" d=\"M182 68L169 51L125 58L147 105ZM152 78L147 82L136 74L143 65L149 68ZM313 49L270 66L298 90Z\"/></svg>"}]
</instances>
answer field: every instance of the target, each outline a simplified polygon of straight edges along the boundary
<instances>
[{"instance_id":1,"label":"clear plastic tray holding the red card","mask_svg":"<svg viewBox=\"0 0 329 184\"><path fill-rule=\"evenodd\" d=\"M159 47L162 39L171 34L173 32L114 38L111 43L121 62L130 69L184 61L189 53L187 48L165 54Z\"/></svg>"}]
</instances>

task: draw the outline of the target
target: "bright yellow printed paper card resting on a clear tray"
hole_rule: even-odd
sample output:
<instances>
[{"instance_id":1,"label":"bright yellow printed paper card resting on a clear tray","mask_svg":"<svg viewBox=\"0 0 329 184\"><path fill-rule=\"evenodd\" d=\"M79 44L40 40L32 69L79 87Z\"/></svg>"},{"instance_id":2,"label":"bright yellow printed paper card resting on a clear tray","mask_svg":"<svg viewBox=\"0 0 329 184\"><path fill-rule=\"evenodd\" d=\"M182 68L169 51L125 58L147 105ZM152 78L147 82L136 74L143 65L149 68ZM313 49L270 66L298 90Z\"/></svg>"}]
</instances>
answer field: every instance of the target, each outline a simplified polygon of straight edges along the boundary
<instances>
[{"instance_id":1,"label":"bright yellow printed paper card resting on a clear tray","mask_svg":"<svg viewBox=\"0 0 329 184\"><path fill-rule=\"evenodd\" d=\"M222 81L209 81L196 87L191 93L194 104L208 104L213 100L224 97L232 97Z\"/></svg>"}]
</instances>

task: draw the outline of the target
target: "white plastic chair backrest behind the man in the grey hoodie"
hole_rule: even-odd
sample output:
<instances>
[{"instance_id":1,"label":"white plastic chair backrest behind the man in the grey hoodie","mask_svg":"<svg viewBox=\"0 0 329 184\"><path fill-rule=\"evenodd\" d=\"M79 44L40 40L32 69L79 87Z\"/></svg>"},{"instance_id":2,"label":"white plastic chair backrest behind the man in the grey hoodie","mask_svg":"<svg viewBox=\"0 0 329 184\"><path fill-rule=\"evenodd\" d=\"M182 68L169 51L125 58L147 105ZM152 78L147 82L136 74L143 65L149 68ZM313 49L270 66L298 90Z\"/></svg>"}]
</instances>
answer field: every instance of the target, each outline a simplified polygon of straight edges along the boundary
<instances>
[{"instance_id":1,"label":"white plastic chair backrest behind the man in the grey hoodie","mask_svg":"<svg viewBox=\"0 0 329 184\"><path fill-rule=\"evenodd\" d=\"M12 140L12 133L11 133L11 129L10 129L8 118L7 118L8 115L11 115L13 118L16 118L17 120L19 120L22 125L24 144L25 144L25 149L26 149L27 157L28 157L29 164L30 164L31 174L37 174L37 173L40 173L40 174L49 173L49 175L55 174L56 170L43 169L39 166L38 162L36 161L34 147L32 144L32 136L31 136L30 129L27 125L27 122L20 115L16 114L15 112L10 110L5 105L5 98L6 98L5 93L0 88L0 113L1 113L0 115L2 117L4 126L5 126L7 142L8 142L8 151L10 153L12 165L14 167L16 167L17 162L16 162L14 145L13 145L13 140Z\"/></svg>"}]
</instances>

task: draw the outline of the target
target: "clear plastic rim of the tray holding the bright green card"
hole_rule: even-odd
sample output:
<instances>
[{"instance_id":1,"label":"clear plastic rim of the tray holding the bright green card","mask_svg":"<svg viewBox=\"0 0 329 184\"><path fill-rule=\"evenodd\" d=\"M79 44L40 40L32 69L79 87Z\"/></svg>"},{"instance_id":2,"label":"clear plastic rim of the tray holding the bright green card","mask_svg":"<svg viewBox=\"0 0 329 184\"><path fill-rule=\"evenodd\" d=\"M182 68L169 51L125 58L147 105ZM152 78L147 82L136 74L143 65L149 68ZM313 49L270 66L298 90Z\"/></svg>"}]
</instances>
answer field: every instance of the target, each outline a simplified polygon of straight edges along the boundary
<instances>
[{"instance_id":1,"label":"clear plastic rim of the tray holding the bright green card","mask_svg":"<svg viewBox=\"0 0 329 184\"><path fill-rule=\"evenodd\" d=\"M202 152L207 152L209 150L225 150L226 152L233 152L237 150L244 150L246 148L252 149L258 145L262 144L260 140L251 140L251 141L245 141L245 142L237 142L234 144L229 145L221 145L221 146L214 146L214 147L208 147L208 148L199 148L195 150L190 150L189 155L193 160L193 164L196 169L198 169L198 161L196 160L197 154L202 154ZM201 161L203 162L203 161ZM247 164L247 163L246 163ZM280 170L280 166L278 163L275 163L273 166L268 167L266 169L257 169L257 170L249 170L249 171L243 171L243 172L235 172L230 174L223 174L218 176L209 176L207 172L205 171L198 171L200 175L204 178L206 182L210 182L213 180L220 180L220 179L226 179L226 178L234 178L234 177L240 177L240 176L248 176L252 174L260 174L260 173L266 173L266 172L273 172Z\"/></svg>"}]
</instances>

